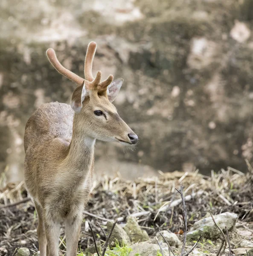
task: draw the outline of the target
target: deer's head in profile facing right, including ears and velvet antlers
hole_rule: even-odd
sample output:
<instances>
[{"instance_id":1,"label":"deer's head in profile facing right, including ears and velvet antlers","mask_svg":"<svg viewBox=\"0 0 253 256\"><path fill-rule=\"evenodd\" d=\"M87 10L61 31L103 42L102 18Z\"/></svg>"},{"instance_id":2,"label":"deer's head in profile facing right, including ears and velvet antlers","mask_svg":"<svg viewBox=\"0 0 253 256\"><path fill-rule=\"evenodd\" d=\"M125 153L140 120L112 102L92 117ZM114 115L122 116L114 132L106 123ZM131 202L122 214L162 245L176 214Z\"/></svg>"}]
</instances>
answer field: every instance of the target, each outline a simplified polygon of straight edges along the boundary
<instances>
[{"instance_id":1,"label":"deer's head in profile facing right, including ears and velvet antlers","mask_svg":"<svg viewBox=\"0 0 253 256\"><path fill-rule=\"evenodd\" d=\"M95 52L96 43L90 42L86 52L85 79L83 79L63 67L53 49L47 50L47 57L52 66L63 76L78 84L70 101L71 107L76 112L75 129L80 134L102 141L117 141L123 145L136 144L137 135L120 118L111 103L118 95L123 79L113 80L113 76L110 75L105 81L101 81L101 71L98 71L93 78L92 64Z\"/></svg>"}]
</instances>

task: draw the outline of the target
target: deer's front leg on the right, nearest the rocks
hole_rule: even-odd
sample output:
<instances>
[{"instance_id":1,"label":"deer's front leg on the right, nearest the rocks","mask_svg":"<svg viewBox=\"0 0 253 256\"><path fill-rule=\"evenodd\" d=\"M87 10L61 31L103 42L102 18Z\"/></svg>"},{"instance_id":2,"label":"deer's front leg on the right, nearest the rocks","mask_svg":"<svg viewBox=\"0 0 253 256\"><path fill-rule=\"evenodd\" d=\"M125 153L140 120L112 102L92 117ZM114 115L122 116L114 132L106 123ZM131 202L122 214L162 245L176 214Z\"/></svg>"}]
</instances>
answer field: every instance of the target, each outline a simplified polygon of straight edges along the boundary
<instances>
[{"instance_id":1,"label":"deer's front leg on the right, nearest the rocks","mask_svg":"<svg viewBox=\"0 0 253 256\"><path fill-rule=\"evenodd\" d=\"M65 222L65 234L67 241L66 256L76 256L78 240L81 231L82 211L73 218L68 218Z\"/></svg>"}]
</instances>

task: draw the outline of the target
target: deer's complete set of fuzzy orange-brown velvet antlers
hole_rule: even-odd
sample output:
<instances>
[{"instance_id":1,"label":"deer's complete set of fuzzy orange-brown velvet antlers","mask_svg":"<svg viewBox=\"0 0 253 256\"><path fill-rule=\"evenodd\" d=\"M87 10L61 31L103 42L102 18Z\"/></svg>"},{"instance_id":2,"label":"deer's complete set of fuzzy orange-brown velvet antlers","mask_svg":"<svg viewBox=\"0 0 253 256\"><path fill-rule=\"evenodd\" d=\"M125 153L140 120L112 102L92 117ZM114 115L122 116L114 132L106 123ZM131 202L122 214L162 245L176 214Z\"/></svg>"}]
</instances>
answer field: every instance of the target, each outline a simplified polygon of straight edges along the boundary
<instances>
[{"instance_id":1,"label":"deer's complete set of fuzzy orange-brown velvet antlers","mask_svg":"<svg viewBox=\"0 0 253 256\"><path fill-rule=\"evenodd\" d=\"M61 63L58 61L55 51L52 48L49 48L47 50L47 57L52 64L52 66L63 76L67 77L71 81L82 84L83 81L85 81L85 86L87 87L87 90L98 90L99 93L105 92L108 85L111 84L111 81L113 81L113 75L108 76L107 79L101 82L101 71L98 71L96 74L95 79L92 75L92 64L93 64L93 58L96 52L96 43L90 42L90 44L87 47L87 53L84 63L84 76L85 79L81 78L80 76L76 75L75 73L71 72L70 70L67 70L67 68L63 67Z\"/></svg>"}]
</instances>

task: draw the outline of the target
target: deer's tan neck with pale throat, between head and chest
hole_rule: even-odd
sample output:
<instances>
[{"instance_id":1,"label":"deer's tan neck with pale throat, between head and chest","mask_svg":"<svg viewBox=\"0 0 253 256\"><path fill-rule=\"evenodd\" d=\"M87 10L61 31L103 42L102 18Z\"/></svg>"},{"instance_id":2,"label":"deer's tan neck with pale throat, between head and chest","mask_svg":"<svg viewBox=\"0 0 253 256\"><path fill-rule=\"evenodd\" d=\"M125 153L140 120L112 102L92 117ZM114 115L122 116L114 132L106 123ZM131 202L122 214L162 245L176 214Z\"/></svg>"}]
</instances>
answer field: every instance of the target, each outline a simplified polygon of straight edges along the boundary
<instances>
[{"instance_id":1,"label":"deer's tan neck with pale throat, between head and chest","mask_svg":"<svg viewBox=\"0 0 253 256\"><path fill-rule=\"evenodd\" d=\"M72 140L68 148L66 157L67 166L70 172L79 175L86 175L92 166L94 157L94 145L96 139L85 134L79 122L79 117L75 114L73 119Z\"/></svg>"}]
</instances>

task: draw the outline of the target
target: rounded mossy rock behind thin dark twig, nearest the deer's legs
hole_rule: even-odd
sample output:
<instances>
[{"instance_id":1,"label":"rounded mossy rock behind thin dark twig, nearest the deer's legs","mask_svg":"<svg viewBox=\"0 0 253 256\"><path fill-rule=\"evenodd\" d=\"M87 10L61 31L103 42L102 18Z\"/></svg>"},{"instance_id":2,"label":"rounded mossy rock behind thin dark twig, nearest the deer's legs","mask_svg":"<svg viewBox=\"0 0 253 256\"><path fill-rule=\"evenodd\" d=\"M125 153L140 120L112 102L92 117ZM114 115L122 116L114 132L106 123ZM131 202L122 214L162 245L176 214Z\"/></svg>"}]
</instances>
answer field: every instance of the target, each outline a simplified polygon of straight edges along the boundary
<instances>
[{"instance_id":1,"label":"rounded mossy rock behind thin dark twig, nearest the deer's legs","mask_svg":"<svg viewBox=\"0 0 253 256\"><path fill-rule=\"evenodd\" d=\"M112 227L113 227L113 222L108 221L107 223L108 233L110 233L110 230ZM123 230L122 227L119 226L119 224L116 224L116 226L114 227L113 233L109 240L110 247L114 247L116 243L119 243L119 245L130 244L130 239L128 234L125 232L125 230Z\"/></svg>"}]
</instances>

